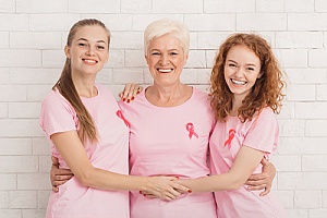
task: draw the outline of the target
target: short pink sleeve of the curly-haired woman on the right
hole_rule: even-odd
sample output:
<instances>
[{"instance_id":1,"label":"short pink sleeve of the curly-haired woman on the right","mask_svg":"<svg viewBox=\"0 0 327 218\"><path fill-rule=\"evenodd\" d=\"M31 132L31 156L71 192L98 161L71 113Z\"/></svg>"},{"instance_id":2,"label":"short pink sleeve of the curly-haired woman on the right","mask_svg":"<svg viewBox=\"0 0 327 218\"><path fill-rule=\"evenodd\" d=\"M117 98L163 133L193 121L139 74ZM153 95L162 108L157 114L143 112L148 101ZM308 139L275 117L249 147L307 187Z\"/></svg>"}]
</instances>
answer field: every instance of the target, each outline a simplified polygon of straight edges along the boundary
<instances>
[{"instance_id":1,"label":"short pink sleeve of the curly-haired woman on the right","mask_svg":"<svg viewBox=\"0 0 327 218\"><path fill-rule=\"evenodd\" d=\"M275 152L278 144L279 125L271 109L264 109L252 121L243 145L268 154Z\"/></svg>"}]
</instances>

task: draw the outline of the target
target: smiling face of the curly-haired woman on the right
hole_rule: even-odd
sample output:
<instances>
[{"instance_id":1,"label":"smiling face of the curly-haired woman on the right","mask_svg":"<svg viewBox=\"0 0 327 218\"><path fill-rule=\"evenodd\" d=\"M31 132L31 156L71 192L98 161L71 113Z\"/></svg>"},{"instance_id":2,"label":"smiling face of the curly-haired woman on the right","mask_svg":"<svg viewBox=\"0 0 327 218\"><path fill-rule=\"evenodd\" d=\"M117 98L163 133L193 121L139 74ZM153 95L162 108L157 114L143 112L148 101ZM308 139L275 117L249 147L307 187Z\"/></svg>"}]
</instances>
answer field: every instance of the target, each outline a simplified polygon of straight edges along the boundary
<instances>
[{"instance_id":1,"label":"smiling face of the curly-haired woman on the right","mask_svg":"<svg viewBox=\"0 0 327 218\"><path fill-rule=\"evenodd\" d=\"M233 46L227 55L223 68L225 81L234 95L243 100L261 77L261 60L246 46Z\"/></svg>"}]
</instances>

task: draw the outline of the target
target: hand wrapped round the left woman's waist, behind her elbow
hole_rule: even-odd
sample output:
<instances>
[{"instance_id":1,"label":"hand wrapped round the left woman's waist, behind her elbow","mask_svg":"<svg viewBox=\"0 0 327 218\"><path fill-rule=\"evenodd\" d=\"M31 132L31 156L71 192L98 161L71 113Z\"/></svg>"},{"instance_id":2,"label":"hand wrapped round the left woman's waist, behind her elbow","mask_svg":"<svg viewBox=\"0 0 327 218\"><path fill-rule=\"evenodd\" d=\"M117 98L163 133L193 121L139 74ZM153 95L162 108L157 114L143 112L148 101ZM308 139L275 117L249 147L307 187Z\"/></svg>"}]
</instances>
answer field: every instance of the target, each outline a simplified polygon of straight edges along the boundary
<instances>
[{"instance_id":1,"label":"hand wrapped round the left woman's waist, behind her elbow","mask_svg":"<svg viewBox=\"0 0 327 218\"><path fill-rule=\"evenodd\" d=\"M59 169L58 158L51 156L52 166L50 170L50 181L52 184L52 191L58 192L58 186L69 181L74 174L69 169Z\"/></svg>"}]
</instances>

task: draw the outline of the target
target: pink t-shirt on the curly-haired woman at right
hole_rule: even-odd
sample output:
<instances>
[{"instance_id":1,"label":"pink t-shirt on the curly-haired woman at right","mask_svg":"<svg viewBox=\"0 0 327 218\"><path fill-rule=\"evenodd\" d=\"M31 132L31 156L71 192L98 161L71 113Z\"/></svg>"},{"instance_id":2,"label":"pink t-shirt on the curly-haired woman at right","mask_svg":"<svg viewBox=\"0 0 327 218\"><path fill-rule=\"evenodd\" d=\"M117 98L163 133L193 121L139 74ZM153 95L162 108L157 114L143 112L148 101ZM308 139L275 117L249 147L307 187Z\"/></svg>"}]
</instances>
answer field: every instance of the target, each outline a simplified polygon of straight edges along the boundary
<instances>
[{"instance_id":1,"label":"pink t-shirt on the curly-haired woman at right","mask_svg":"<svg viewBox=\"0 0 327 218\"><path fill-rule=\"evenodd\" d=\"M217 122L210 137L210 167L213 174L230 170L241 146L249 146L266 153L269 158L278 144L279 126L270 108L265 108L252 121L242 123L237 117L228 117L227 122ZM255 172L261 172L259 165ZM216 192L217 214L223 218L283 218L284 209L269 193L246 191L245 186L234 191Z\"/></svg>"}]
</instances>

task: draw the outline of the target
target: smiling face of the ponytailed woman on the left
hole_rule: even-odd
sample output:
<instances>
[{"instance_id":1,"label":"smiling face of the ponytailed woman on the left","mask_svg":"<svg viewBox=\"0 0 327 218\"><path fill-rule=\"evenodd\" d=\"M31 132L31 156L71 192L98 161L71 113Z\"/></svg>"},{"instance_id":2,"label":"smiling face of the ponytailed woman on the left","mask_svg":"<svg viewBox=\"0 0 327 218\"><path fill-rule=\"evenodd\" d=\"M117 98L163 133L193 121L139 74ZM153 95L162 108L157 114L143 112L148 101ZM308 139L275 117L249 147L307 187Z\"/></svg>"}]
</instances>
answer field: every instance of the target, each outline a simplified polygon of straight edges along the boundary
<instances>
[{"instance_id":1,"label":"smiling face of the ponytailed woman on the left","mask_svg":"<svg viewBox=\"0 0 327 218\"><path fill-rule=\"evenodd\" d=\"M81 27L71 46L65 46L65 56L71 59L73 74L96 75L108 61L108 33L101 26Z\"/></svg>"}]
</instances>

